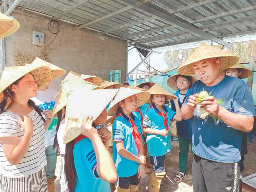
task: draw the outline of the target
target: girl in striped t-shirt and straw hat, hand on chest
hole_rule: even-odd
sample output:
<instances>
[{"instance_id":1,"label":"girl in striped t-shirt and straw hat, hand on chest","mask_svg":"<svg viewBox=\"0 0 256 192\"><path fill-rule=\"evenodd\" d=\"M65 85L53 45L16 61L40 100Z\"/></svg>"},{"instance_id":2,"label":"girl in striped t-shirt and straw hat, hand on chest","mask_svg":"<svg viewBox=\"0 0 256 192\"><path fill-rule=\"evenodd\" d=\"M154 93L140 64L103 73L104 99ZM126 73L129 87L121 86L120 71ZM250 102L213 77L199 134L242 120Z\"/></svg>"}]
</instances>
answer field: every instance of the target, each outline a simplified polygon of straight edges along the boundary
<instances>
[{"instance_id":1,"label":"girl in striped t-shirt and straw hat, hand on chest","mask_svg":"<svg viewBox=\"0 0 256 192\"><path fill-rule=\"evenodd\" d=\"M47 192L45 131L52 121L30 99L51 76L47 65L5 67L0 80L0 189Z\"/></svg>"}]
</instances>

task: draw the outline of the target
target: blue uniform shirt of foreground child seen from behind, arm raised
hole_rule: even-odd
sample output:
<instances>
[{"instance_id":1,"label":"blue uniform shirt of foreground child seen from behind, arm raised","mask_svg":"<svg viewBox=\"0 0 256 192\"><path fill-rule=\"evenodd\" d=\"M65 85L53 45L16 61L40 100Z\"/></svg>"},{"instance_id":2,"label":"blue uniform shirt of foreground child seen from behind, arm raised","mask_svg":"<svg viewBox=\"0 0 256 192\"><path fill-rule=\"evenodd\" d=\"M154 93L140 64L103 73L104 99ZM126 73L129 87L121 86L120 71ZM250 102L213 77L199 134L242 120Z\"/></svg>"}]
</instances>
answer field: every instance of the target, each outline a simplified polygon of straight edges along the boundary
<instances>
[{"instance_id":1,"label":"blue uniform shirt of foreground child seen from behind, arm raised","mask_svg":"<svg viewBox=\"0 0 256 192\"><path fill-rule=\"evenodd\" d=\"M74 166L77 173L74 191L110 192L110 184L99 178L97 174L96 155L91 140L81 135L77 137L76 141L73 150Z\"/></svg>"}]
</instances>

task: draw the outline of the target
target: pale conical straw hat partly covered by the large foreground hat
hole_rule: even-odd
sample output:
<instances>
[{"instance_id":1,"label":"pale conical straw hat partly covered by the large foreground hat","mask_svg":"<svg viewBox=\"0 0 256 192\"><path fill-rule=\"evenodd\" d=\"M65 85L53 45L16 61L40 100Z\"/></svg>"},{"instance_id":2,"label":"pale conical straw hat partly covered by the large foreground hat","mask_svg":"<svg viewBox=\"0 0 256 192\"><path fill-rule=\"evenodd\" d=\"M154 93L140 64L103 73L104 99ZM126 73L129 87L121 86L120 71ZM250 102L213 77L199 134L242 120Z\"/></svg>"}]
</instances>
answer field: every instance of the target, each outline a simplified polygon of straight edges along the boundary
<instances>
[{"instance_id":1,"label":"pale conical straw hat partly covered by the large foreground hat","mask_svg":"<svg viewBox=\"0 0 256 192\"><path fill-rule=\"evenodd\" d=\"M70 71L64 80L61 81L60 90L55 96L55 106L52 110L52 115L56 115L63 107L67 105L67 97L72 91L99 89L97 85L80 79L80 74ZM84 95L86 97L86 95Z\"/></svg>"}]
</instances>

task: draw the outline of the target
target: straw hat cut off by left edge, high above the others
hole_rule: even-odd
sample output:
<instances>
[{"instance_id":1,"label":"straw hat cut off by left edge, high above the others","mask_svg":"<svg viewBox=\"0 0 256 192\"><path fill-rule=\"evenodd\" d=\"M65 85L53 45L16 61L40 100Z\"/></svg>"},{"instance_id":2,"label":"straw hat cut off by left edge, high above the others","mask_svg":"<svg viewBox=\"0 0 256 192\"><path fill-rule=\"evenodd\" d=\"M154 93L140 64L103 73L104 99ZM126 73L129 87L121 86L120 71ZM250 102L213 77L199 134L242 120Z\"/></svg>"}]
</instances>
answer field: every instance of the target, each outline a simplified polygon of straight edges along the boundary
<instances>
[{"instance_id":1,"label":"straw hat cut off by left edge, high above the others","mask_svg":"<svg viewBox=\"0 0 256 192\"><path fill-rule=\"evenodd\" d=\"M20 23L13 18L0 13L0 39L7 37L20 28Z\"/></svg>"}]
</instances>

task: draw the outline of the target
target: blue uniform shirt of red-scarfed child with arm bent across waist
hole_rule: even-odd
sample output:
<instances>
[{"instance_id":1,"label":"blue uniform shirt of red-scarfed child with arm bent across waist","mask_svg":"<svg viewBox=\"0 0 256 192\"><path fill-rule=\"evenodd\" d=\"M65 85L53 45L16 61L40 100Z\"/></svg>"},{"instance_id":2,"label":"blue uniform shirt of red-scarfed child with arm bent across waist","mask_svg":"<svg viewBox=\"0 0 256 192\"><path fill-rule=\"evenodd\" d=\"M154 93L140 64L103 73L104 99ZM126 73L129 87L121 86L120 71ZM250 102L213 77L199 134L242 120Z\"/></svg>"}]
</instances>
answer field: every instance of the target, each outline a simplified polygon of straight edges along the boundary
<instances>
[{"instance_id":1,"label":"blue uniform shirt of red-scarfed child with arm bent across waist","mask_svg":"<svg viewBox=\"0 0 256 192\"><path fill-rule=\"evenodd\" d=\"M133 123L138 128L138 133L141 136L142 130L139 129L140 122L136 116L131 114ZM112 125L113 132L113 160L116 166L118 177L133 176L138 172L138 163L122 157L118 154L116 149L116 141L124 142L124 148L134 154L138 155L138 150L135 145L135 140L132 136L131 123L129 118L121 111L120 115L116 117Z\"/></svg>"}]
</instances>

